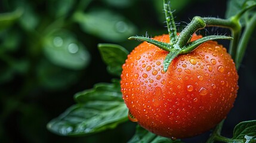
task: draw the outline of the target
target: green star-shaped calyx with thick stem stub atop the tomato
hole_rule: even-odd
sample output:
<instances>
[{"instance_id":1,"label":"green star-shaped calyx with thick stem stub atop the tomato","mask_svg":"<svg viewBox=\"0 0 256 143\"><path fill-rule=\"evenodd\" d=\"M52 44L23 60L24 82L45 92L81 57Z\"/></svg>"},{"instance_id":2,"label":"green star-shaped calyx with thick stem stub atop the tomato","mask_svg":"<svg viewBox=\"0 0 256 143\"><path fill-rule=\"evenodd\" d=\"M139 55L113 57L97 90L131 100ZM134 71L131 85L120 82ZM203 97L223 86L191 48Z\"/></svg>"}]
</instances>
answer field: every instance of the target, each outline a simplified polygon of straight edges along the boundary
<instances>
[{"instance_id":1,"label":"green star-shaped calyx with thick stem stub atop the tomato","mask_svg":"<svg viewBox=\"0 0 256 143\"><path fill-rule=\"evenodd\" d=\"M164 7L166 7L166 4L164 4ZM168 10L170 13L172 13L170 10ZM172 14L169 14L172 17ZM137 39L139 41L146 41L149 43L152 43L153 45L158 46L159 48L168 51L169 54L166 55L164 60L164 71L166 72L169 64L172 60L174 60L175 57L177 57L180 54L187 54L189 52L192 52L194 49L196 49L199 45L201 45L204 42L217 40L217 39L233 39L229 36L221 36L221 35L212 35L212 36L206 36L204 38L198 39L193 42L189 42L192 38L192 35L199 29L203 29L206 26L205 20L203 20L202 17L196 16L193 18L193 20L183 29L183 31L180 33L180 35L177 36L177 33L175 33L176 36L172 32L176 32L175 23L172 18L169 18L169 15L166 15L166 22L168 27L168 32L170 36L170 42L159 42L147 37L141 37L141 36L131 36L128 39ZM170 20L171 19L171 20ZM171 24L170 24L171 23Z\"/></svg>"}]
</instances>

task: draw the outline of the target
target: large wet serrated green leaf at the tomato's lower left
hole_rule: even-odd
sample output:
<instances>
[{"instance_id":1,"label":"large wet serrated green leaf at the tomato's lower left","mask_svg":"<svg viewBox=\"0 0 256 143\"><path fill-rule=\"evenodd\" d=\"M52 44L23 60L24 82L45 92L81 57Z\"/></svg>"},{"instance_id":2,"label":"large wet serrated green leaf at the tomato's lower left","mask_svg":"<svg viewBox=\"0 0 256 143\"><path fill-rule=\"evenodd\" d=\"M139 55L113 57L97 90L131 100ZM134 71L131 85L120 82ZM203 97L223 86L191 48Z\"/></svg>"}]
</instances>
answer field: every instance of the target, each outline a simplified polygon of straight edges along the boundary
<instances>
[{"instance_id":1,"label":"large wet serrated green leaf at the tomato's lower left","mask_svg":"<svg viewBox=\"0 0 256 143\"><path fill-rule=\"evenodd\" d=\"M94 89L76 94L79 104L51 120L47 128L64 136L89 135L115 128L128 120L128 109L118 87L99 83Z\"/></svg>"}]
</instances>

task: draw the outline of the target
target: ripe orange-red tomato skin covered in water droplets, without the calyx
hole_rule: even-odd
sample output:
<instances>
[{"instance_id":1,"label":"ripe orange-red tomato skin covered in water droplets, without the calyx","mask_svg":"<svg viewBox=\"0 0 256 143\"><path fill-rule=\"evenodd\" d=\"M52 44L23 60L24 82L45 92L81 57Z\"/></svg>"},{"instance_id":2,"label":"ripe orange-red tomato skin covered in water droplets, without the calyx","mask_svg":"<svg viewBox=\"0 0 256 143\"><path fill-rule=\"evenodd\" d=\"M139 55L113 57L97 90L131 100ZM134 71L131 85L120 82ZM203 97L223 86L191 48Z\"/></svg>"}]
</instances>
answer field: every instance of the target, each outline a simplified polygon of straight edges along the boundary
<instances>
[{"instance_id":1,"label":"ripe orange-red tomato skin covered in water droplets, without the calyx","mask_svg":"<svg viewBox=\"0 0 256 143\"><path fill-rule=\"evenodd\" d=\"M192 41L202 38L193 35ZM169 42L168 35L153 38ZM143 128L168 138L187 138L214 128L233 107L238 73L226 48L208 41L178 55L164 72L168 52L147 42L122 66L125 104Z\"/></svg>"}]
</instances>

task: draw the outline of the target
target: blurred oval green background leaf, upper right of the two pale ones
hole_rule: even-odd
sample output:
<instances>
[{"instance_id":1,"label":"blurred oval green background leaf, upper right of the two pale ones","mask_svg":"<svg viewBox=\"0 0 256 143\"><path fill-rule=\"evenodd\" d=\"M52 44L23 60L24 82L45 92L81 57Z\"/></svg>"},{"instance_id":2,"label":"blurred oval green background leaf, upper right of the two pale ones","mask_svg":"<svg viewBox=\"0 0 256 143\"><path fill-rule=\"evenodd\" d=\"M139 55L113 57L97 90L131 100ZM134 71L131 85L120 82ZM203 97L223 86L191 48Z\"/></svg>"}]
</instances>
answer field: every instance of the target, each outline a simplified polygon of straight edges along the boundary
<instances>
[{"instance_id":1,"label":"blurred oval green background leaf, upper right of the two pale ones","mask_svg":"<svg viewBox=\"0 0 256 143\"><path fill-rule=\"evenodd\" d=\"M84 32L111 42L125 41L136 29L134 24L122 15L102 8L89 13L75 13L73 18Z\"/></svg>"}]
</instances>

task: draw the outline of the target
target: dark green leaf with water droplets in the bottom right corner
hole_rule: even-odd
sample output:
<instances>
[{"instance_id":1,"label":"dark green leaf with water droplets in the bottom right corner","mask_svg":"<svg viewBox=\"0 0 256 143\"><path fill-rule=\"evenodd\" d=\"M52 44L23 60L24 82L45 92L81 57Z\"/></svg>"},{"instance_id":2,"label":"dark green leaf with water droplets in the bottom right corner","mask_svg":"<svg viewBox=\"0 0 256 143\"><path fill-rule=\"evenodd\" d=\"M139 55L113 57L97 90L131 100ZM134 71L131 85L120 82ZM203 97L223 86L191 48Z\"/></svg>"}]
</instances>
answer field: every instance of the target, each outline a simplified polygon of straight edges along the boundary
<instances>
[{"instance_id":1,"label":"dark green leaf with water droplets in the bottom right corner","mask_svg":"<svg viewBox=\"0 0 256 143\"><path fill-rule=\"evenodd\" d=\"M256 142L256 120L241 122L235 126L232 139L244 139ZM249 142L248 141L248 142Z\"/></svg>"}]
</instances>

